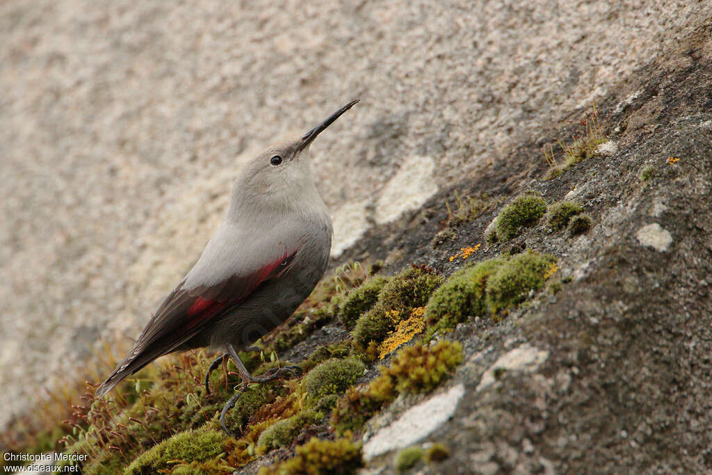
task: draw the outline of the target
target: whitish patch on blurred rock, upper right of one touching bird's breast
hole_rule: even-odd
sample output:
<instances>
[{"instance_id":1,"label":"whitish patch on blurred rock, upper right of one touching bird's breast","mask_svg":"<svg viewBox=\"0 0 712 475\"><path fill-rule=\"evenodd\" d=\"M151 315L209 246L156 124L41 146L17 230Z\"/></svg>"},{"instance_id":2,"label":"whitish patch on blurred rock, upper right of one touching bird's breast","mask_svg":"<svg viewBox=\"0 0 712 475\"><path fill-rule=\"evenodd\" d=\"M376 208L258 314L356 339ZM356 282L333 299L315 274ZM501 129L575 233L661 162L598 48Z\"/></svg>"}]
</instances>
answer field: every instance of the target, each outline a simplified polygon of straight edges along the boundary
<instances>
[{"instance_id":1,"label":"whitish patch on blurred rock, upper right of one touching bird's breast","mask_svg":"<svg viewBox=\"0 0 712 475\"><path fill-rule=\"evenodd\" d=\"M378 224L393 221L403 212L416 209L438 191L434 180L435 161L423 155L411 155L383 187L376 202Z\"/></svg>"}]
</instances>

